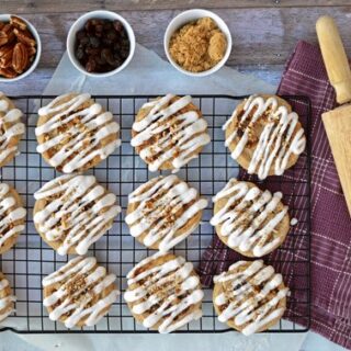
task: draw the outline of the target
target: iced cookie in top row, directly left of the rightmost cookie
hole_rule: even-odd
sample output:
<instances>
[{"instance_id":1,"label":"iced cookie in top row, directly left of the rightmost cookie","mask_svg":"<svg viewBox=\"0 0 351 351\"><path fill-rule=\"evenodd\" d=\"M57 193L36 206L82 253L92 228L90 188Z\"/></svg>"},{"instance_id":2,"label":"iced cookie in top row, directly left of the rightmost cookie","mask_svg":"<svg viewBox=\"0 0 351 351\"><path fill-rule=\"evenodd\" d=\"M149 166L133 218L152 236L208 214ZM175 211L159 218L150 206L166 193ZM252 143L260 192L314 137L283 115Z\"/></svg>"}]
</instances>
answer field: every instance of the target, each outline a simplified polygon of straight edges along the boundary
<instances>
[{"instance_id":1,"label":"iced cookie in top row, directly left of the rightmost cookie","mask_svg":"<svg viewBox=\"0 0 351 351\"><path fill-rule=\"evenodd\" d=\"M145 103L132 127L132 146L151 172L177 171L211 141L207 122L191 97L167 94Z\"/></svg>"}]
</instances>

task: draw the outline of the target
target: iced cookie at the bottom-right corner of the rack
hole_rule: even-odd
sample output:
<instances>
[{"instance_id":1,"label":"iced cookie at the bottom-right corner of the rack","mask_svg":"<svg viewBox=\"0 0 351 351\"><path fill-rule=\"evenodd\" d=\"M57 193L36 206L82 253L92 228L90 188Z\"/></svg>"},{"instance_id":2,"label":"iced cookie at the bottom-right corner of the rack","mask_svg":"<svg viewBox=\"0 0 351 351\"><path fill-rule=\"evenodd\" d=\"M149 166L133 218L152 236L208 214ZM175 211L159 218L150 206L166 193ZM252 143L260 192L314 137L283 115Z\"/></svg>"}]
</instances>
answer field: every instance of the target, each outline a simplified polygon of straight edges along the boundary
<instances>
[{"instance_id":1,"label":"iced cookie at the bottom-right corner of the rack","mask_svg":"<svg viewBox=\"0 0 351 351\"><path fill-rule=\"evenodd\" d=\"M274 326L286 308L288 288L282 274L262 260L238 261L214 278L218 319L249 336Z\"/></svg>"}]
</instances>

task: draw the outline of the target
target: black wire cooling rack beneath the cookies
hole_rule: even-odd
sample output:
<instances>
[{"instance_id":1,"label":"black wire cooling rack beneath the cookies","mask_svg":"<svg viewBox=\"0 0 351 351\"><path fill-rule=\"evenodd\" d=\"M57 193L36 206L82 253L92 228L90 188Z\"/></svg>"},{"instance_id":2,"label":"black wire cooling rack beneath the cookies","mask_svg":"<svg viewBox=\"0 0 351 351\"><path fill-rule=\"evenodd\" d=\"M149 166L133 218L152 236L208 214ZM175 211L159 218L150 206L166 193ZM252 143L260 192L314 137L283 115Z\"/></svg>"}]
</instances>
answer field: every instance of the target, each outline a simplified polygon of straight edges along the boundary
<instances>
[{"instance_id":1,"label":"black wire cooling rack beneath the cookies","mask_svg":"<svg viewBox=\"0 0 351 351\"><path fill-rule=\"evenodd\" d=\"M122 146L104 162L87 173L93 173L111 191L113 191L123 208L122 214L114 220L109 234L104 235L89 254L98 258L100 264L106 267L117 276L117 285L122 292L118 301L112 306L110 314L95 327L68 330L60 322L50 321L46 308L43 307L42 279L57 270L68 257L57 254L42 241L33 225L33 193L53 178L59 176L36 152L34 128L37 121L37 109L48 103L54 97L18 97L13 98L26 120L26 134L21 141L21 154L5 167L0 169L1 181L13 185L22 195L27 208L27 220L24 234L19 238L16 246L0 256L0 270L8 276L14 294L18 297L13 316L9 317L0 327L0 331L13 330L20 333L46 332L151 332L136 324L123 299L126 287L126 273L141 259L154 251L139 245L129 234L124 223L128 194L138 185L145 183L158 173L150 173L144 161L131 147L131 127L134 116L143 103L155 97L123 95L95 97L95 100L111 111L121 125ZM201 152L200 157L182 168L178 176L199 189L208 200L204 210L203 220L186 240L173 249L176 254L182 254L195 267L201 262L203 251L208 247L214 229L210 225L213 213L211 197L216 194L239 171L237 163L230 158L224 146L223 124L230 116L236 104L245 97L229 95L194 95L194 103L200 106L208 122L208 132L212 143ZM304 97L284 97L290 103L299 106L301 120L305 126L306 136L309 136L310 103ZM307 140L308 141L308 140ZM309 144L309 143L308 143ZM271 328L270 332L298 332L308 329L310 319L310 271L309 271L309 211L310 211L310 159L309 146L295 165L303 174L301 182L307 184L306 192L290 196L291 217L299 219L299 229L292 227L287 244L283 244L280 252L288 250L288 262L280 254L272 264L290 263L288 281L291 295L288 297L290 321L281 320ZM283 180L278 178L283 186ZM284 201L286 199L283 199ZM282 256L283 257L283 256ZM265 259L267 261L267 259ZM304 272L303 274L301 272ZM178 332L223 332L226 325L220 324L212 304L212 290L204 288L203 317L183 327ZM303 326L302 326L303 325Z\"/></svg>"}]
</instances>

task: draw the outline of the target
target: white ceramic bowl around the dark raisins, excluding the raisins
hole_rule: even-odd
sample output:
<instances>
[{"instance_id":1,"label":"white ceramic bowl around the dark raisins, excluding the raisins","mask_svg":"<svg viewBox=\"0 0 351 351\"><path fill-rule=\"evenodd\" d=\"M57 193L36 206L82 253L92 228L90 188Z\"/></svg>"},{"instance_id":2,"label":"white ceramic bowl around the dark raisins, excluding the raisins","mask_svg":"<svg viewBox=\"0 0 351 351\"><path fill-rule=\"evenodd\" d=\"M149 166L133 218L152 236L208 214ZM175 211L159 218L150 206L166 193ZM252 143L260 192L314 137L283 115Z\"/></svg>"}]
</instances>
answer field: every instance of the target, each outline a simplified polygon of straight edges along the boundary
<instances>
[{"instance_id":1,"label":"white ceramic bowl around the dark raisins, excluding the raisins","mask_svg":"<svg viewBox=\"0 0 351 351\"><path fill-rule=\"evenodd\" d=\"M129 49L129 55L126 58L126 60L116 69L111 70L109 72L87 72L86 68L78 61L78 59L76 58L76 54L75 54L75 44L76 44L76 34L78 31L80 31L86 22L90 19L103 19L103 20L118 20L123 26L125 27L127 34L128 34L128 39L129 39L129 45L131 45L131 49ZM120 14L115 13L115 12L111 12L111 11L105 11L105 10L99 10L99 11L91 11L88 12L83 15L81 15L70 27L68 35L67 35L67 53L69 56L70 61L73 64L73 66L81 71L82 73L90 76L90 77L109 77L109 76L113 76L117 72L120 72L121 70L123 70L124 68L126 68L128 66L128 64L131 63L133 55L135 52L135 35L133 32L133 29L131 26L131 24Z\"/></svg>"}]
</instances>

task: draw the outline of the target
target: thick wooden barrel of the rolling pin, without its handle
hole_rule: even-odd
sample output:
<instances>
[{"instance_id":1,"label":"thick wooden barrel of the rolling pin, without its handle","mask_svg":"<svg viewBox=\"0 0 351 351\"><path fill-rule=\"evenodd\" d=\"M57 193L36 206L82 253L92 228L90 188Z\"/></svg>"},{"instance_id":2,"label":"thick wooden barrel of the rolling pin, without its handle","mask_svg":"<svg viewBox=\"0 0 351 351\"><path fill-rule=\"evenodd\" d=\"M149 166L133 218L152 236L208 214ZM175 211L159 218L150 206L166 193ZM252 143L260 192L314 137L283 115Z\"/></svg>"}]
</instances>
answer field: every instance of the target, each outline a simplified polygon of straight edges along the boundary
<instances>
[{"instance_id":1,"label":"thick wooden barrel of the rolling pin, without its handle","mask_svg":"<svg viewBox=\"0 0 351 351\"><path fill-rule=\"evenodd\" d=\"M351 215L351 105L322 114L332 156Z\"/></svg>"}]
</instances>

